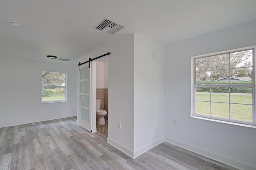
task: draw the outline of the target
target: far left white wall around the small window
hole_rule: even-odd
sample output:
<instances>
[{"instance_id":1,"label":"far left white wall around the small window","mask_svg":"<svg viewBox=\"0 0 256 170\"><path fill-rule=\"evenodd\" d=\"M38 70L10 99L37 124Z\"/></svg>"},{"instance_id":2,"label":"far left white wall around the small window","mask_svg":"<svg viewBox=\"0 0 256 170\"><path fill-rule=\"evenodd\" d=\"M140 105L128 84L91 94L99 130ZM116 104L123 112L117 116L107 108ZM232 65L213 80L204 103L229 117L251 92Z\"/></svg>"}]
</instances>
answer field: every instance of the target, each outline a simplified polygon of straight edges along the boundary
<instances>
[{"instance_id":1,"label":"far left white wall around the small window","mask_svg":"<svg viewBox=\"0 0 256 170\"><path fill-rule=\"evenodd\" d=\"M75 65L0 57L0 127L76 116L76 69ZM41 103L42 71L67 73L67 102Z\"/></svg>"}]
</instances>

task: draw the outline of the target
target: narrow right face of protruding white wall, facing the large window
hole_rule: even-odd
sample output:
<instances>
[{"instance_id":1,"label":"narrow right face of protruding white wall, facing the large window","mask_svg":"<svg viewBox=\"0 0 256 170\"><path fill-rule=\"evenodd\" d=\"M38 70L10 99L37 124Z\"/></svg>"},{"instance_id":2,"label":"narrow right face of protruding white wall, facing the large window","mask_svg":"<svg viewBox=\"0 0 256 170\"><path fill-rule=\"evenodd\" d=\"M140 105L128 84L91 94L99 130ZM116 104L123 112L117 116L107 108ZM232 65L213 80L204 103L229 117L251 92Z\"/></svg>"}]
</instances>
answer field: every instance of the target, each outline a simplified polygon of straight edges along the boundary
<instances>
[{"instance_id":1,"label":"narrow right face of protruding white wall, facing the large window","mask_svg":"<svg viewBox=\"0 0 256 170\"><path fill-rule=\"evenodd\" d=\"M163 141L164 47L134 35L134 157Z\"/></svg>"}]
</instances>

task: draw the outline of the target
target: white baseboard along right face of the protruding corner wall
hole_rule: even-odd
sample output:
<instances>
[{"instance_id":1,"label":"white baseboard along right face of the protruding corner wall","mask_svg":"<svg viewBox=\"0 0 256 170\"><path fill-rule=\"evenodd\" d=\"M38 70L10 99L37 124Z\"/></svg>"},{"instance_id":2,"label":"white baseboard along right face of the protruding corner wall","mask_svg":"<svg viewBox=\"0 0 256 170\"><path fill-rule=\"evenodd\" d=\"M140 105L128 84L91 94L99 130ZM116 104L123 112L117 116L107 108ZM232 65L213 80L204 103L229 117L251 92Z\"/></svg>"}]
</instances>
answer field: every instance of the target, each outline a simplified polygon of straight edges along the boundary
<instances>
[{"instance_id":1,"label":"white baseboard along right face of the protruding corner wall","mask_svg":"<svg viewBox=\"0 0 256 170\"><path fill-rule=\"evenodd\" d=\"M158 144L161 144L162 142L164 142L164 137L160 137L155 141L152 141L150 143L146 143L143 146L141 146L140 148L134 150L133 153L133 158L137 158L138 156L140 156L141 154L144 154L145 152L147 152L148 150L154 148L155 146L157 146Z\"/></svg>"}]
</instances>

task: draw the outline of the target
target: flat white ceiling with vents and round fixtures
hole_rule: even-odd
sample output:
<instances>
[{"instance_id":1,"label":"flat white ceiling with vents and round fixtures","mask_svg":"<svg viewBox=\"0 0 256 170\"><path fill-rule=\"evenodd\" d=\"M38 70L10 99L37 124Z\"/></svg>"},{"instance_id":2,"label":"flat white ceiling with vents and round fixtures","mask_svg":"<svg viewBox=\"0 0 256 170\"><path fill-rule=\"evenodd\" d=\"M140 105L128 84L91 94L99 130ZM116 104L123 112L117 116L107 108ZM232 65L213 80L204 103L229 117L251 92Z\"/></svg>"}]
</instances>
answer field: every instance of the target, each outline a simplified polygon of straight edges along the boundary
<instances>
[{"instance_id":1,"label":"flat white ceiling with vents and round fixtures","mask_svg":"<svg viewBox=\"0 0 256 170\"><path fill-rule=\"evenodd\" d=\"M1 0L0 56L77 64L128 34L168 45L256 20L255 7L256 0ZM126 28L94 29L104 17Z\"/></svg>"}]
</instances>

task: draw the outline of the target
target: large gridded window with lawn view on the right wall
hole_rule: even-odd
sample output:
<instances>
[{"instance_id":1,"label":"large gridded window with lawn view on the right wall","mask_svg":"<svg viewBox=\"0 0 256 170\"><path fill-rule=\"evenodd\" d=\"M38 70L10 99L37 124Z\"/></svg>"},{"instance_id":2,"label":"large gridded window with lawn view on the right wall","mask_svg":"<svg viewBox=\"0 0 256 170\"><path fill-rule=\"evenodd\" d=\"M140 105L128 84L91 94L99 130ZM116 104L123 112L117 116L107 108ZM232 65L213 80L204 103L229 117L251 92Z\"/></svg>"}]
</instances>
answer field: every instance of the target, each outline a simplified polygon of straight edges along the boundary
<instances>
[{"instance_id":1,"label":"large gridded window with lawn view on the right wall","mask_svg":"<svg viewBox=\"0 0 256 170\"><path fill-rule=\"evenodd\" d=\"M255 46L192 57L191 116L256 126Z\"/></svg>"}]
</instances>

